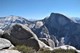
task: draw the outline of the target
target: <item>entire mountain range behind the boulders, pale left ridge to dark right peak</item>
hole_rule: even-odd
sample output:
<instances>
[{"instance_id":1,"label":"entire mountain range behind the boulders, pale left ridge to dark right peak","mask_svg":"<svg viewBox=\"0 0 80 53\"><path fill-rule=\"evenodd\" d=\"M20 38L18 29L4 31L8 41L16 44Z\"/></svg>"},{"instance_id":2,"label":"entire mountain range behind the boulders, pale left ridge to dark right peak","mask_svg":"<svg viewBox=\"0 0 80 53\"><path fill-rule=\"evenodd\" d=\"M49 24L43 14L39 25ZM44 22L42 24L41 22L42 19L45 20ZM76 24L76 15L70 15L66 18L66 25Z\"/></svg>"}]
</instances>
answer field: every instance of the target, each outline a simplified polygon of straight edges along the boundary
<instances>
[{"instance_id":1,"label":"entire mountain range behind the boulders, pale left ridge to dark right peak","mask_svg":"<svg viewBox=\"0 0 80 53\"><path fill-rule=\"evenodd\" d=\"M28 26L38 38L54 40L56 46L65 44L80 49L80 18L68 18L60 13L51 13L49 17L36 21L13 15L0 17L2 30L16 23Z\"/></svg>"}]
</instances>

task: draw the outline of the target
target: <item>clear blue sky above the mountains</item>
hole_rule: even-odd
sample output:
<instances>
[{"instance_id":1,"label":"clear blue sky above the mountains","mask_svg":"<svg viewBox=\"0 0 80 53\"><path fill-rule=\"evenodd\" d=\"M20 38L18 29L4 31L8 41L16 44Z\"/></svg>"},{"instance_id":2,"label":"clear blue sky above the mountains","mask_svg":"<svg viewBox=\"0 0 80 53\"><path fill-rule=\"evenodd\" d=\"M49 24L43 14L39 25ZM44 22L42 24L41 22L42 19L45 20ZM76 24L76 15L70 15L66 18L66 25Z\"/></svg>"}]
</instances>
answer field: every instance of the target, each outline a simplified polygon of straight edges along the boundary
<instances>
[{"instance_id":1,"label":"clear blue sky above the mountains","mask_svg":"<svg viewBox=\"0 0 80 53\"><path fill-rule=\"evenodd\" d=\"M80 17L80 0L0 0L0 17L15 15L43 19L52 12Z\"/></svg>"}]
</instances>

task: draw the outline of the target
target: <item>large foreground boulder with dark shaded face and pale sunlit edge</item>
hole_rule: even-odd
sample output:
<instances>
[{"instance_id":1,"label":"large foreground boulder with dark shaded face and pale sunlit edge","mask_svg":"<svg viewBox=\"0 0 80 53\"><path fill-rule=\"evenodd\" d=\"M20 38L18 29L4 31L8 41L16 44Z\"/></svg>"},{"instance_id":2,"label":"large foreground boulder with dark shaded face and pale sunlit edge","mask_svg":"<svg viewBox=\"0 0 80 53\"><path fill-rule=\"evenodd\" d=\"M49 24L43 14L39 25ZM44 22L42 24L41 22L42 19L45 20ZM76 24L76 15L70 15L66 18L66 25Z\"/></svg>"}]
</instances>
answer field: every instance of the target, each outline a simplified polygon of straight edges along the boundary
<instances>
[{"instance_id":1,"label":"large foreground boulder with dark shaded face and pale sunlit edge","mask_svg":"<svg viewBox=\"0 0 80 53\"><path fill-rule=\"evenodd\" d=\"M25 44L36 50L43 47L52 50L51 47L40 41L28 27L22 24L13 25L10 29L4 32L2 37L10 40L14 45Z\"/></svg>"}]
</instances>

